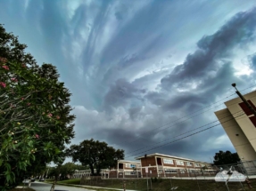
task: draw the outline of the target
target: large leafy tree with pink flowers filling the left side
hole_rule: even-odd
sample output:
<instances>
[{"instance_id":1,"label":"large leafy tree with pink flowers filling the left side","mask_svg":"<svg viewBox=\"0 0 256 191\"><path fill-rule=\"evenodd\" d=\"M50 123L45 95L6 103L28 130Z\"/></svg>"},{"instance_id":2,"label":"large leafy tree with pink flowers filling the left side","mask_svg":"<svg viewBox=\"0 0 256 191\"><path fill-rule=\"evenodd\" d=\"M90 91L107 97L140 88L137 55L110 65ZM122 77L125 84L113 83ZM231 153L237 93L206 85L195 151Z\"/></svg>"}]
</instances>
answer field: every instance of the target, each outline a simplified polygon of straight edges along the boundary
<instances>
[{"instance_id":1,"label":"large leafy tree with pink flowers filling the left side","mask_svg":"<svg viewBox=\"0 0 256 191\"><path fill-rule=\"evenodd\" d=\"M56 68L37 66L24 52L26 47L0 25L2 190L14 187L46 163L62 163L64 145L74 137L70 92L58 81Z\"/></svg>"}]
</instances>

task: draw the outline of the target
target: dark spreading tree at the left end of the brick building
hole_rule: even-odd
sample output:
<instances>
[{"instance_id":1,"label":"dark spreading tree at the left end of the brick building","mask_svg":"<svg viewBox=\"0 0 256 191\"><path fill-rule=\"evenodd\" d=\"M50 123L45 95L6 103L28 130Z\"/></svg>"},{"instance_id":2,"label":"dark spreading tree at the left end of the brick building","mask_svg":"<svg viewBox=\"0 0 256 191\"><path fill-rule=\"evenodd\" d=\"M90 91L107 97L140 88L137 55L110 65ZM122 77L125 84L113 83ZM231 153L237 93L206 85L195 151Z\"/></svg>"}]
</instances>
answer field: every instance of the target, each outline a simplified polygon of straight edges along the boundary
<instances>
[{"instance_id":1,"label":"dark spreading tree at the left end of the brick building","mask_svg":"<svg viewBox=\"0 0 256 191\"><path fill-rule=\"evenodd\" d=\"M66 152L72 157L73 162L88 165L92 175L99 175L101 169L115 167L117 160L124 159L124 150L109 147L107 143L94 139L86 139L79 145L71 145Z\"/></svg>"}]
</instances>

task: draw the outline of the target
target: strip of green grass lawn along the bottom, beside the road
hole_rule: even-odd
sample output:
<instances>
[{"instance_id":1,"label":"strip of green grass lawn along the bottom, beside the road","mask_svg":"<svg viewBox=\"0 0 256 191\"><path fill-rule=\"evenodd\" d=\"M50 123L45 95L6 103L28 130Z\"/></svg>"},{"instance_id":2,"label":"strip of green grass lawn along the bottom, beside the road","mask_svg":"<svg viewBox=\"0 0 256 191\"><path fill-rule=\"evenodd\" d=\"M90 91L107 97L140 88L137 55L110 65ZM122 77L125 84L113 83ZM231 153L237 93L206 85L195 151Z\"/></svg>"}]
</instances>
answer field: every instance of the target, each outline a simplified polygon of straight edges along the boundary
<instances>
[{"instance_id":1,"label":"strip of green grass lawn along the bottom, beside the road","mask_svg":"<svg viewBox=\"0 0 256 191\"><path fill-rule=\"evenodd\" d=\"M149 190L152 191L168 191L171 187L178 187L178 191L227 191L224 182L215 182L214 180L193 180L193 179L153 179L151 182L148 179ZM80 179L69 179L58 181L58 183L65 184L79 184ZM256 191L256 179L251 179L252 188L249 188L245 182L242 183L244 190ZM147 190L146 179L125 179L126 189L131 190ZM110 187L123 189L123 179L83 179L84 186L92 187ZM229 182L229 191L243 190L239 182ZM152 189L150 189L152 187ZM95 190L95 188L92 188Z\"/></svg>"}]
</instances>

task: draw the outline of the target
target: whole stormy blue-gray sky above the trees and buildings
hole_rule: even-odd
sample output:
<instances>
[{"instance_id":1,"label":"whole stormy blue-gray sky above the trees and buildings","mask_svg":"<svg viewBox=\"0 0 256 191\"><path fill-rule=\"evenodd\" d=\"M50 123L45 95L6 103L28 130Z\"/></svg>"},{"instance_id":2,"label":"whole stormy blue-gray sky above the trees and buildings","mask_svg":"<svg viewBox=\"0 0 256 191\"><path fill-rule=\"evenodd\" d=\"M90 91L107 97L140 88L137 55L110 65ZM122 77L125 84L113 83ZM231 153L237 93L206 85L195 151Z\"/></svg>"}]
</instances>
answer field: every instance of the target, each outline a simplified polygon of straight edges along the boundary
<instances>
[{"instance_id":1,"label":"whole stormy blue-gray sky above the trees and buildings","mask_svg":"<svg viewBox=\"0 0 256 191\"><path fill-rule=\"evenodd\" d=\"M72 144L105 141L127 160L161 153L211 162L219 150L235 152L214 111L237 97L231 84L242 93L256 87L254 0L0 0L0 7L4 28L38 64L54 64L70 89Z\"/></svg>"}]
</instances>

